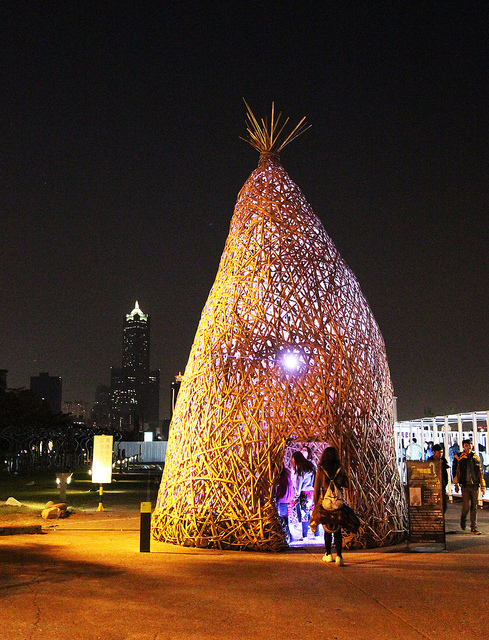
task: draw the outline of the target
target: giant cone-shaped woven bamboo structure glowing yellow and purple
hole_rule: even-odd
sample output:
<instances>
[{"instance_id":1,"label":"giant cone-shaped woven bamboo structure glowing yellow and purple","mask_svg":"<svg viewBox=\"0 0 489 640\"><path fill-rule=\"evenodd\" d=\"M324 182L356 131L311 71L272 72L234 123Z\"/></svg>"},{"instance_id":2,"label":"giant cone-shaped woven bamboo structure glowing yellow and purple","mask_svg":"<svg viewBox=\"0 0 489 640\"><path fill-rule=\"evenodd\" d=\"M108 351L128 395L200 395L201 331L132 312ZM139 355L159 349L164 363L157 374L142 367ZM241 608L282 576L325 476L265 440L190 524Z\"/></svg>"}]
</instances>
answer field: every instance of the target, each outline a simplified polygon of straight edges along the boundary
<instances>
[{"instance_id":1,"label":"giant cone-shaped woven bamboo structure glowing yellow and purple","mask_svg":"<svg viewBox=\"0 0 489 640\"><path fill-rule=\"evenodd\" d=\"M286 546L274 485L288 442L340 451L362 527L402 539L385 347L359 284L282 168L280 116L248 118L258 168L243 186L170 429L153 536L183 545Z\"/></svg>"}]
</instances>

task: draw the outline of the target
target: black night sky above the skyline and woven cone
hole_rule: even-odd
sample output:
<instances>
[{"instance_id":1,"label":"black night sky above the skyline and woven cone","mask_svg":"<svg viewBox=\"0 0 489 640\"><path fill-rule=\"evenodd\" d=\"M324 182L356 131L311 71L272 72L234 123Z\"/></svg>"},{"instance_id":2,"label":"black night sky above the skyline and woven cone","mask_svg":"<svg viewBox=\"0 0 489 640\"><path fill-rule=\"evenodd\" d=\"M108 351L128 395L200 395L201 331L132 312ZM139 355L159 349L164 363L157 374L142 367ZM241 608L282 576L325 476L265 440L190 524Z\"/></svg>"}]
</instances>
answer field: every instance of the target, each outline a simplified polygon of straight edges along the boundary
<instances>
[{"instance_id":1,"label":"black night sky above the skyline and woven cone","mask_svg":"<svg viewBox=\"0 0 489 640\"><path fill-rule=\"evenodd\" d=\"M485 1L1 2L8 386L49 371L93 402L138 300L169 416L258 162L245 97L312 125L281 160L369 301L399 418L489 409L488 20Z\"/></svg>"}]
</instances>

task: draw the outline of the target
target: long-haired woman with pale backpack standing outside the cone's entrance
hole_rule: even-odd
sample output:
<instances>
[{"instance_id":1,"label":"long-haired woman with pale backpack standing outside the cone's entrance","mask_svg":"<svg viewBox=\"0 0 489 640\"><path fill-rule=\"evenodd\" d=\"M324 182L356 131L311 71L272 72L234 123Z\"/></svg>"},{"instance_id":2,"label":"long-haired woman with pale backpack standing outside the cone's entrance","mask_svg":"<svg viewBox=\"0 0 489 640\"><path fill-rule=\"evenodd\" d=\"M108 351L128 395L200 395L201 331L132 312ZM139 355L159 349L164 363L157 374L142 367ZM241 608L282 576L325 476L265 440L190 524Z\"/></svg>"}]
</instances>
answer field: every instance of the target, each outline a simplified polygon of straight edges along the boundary
<instances>
[{"instance_id":1,"label":"long-haired woman with pale backpack standing outside the cone's entrance","mask_svg":"<svg viewBox=\"0 0 489 640\"><path fill-rule=\"evenodd\" d=\"M314 482L314 511L321 513L320 522L324 528L324 546L326 553L323 562L333 562L331 546L334 536L336 564L343 566L342 554L342 504L343 488L348 488L349 481L341 466L340 456L334 447L326 447L319 461Z\"/></svg>"}]
</instances>

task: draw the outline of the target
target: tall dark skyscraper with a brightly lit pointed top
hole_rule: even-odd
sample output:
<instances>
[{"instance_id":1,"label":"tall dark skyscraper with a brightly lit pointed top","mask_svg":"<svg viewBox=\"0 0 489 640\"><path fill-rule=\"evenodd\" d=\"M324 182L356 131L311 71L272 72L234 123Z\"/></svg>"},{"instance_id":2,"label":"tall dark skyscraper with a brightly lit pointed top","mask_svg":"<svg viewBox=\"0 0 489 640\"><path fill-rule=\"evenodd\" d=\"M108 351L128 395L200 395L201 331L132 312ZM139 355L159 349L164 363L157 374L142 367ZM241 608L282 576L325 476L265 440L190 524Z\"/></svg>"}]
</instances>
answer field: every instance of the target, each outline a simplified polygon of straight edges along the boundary
<instances>
[{"instance_id":1,"label":"tall dark skyscraper with a brightly lit pointed top","mask_svg":"<svg viewBox=\"0 0 489 640\"><path fill-rule=\"evenodd\" d=\"M136 301L123 323L122 367L110 376L111 424L136 440L159 421L160 372L150 371L149 347L149 316Z\"/></svg>"}]
</instances>

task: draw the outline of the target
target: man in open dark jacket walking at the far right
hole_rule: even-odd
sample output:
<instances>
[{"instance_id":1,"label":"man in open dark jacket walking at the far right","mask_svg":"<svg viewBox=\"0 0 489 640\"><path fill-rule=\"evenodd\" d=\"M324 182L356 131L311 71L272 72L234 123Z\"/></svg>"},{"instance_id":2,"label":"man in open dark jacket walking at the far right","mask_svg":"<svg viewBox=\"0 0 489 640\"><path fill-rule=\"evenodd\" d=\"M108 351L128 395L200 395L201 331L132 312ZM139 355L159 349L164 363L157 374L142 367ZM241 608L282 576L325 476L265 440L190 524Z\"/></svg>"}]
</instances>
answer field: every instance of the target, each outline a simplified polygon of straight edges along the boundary
<instances>
[{"instance_id":1,"label":"man in open dark jacket walking at the far right","mask_svg":"<svg viewBox=\"0 0 489 640\"><path fill-rule=\"evenodd\" d=\"M467 514L470 509L470 530L475 535L480 535L477 529L477 500L479 488L484 492L486 483L482 475L481 461L472 451L470 440L462 442L462 451L453 460L453 482L458 493L459 485L462 487L462 515L460 526L465 531Z\"/></svg>"}]
</instances>

